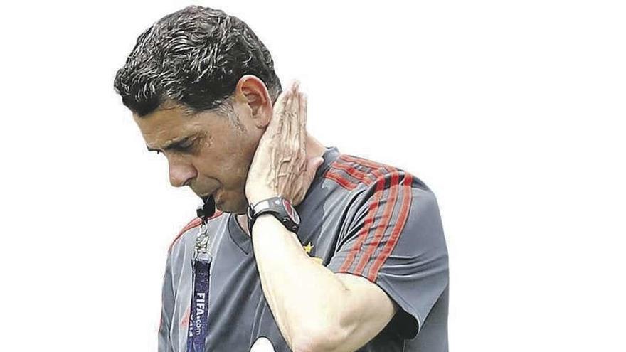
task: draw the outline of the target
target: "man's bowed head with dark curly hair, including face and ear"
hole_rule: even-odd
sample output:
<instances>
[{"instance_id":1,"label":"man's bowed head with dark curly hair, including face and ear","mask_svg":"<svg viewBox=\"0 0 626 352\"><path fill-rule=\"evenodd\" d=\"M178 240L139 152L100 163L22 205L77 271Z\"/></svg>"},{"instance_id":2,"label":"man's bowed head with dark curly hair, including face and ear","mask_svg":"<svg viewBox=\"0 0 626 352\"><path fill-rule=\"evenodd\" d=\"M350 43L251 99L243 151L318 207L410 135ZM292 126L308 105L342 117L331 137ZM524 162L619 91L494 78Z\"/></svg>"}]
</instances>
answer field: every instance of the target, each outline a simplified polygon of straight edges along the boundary
<instances>
[{"instance_id":1,"label":"man's bowed head with dark curly hair, including face and ear","mask_svg":"<svg viewBox=\"0 0 626 352\"><path fill-rule=\"evenodd\" d=\"M245 212L245 178L281 87L243 21L200 6L161 18L137 38L115 90L168 159L172 186Z\"/></svg>"}]
</instances>

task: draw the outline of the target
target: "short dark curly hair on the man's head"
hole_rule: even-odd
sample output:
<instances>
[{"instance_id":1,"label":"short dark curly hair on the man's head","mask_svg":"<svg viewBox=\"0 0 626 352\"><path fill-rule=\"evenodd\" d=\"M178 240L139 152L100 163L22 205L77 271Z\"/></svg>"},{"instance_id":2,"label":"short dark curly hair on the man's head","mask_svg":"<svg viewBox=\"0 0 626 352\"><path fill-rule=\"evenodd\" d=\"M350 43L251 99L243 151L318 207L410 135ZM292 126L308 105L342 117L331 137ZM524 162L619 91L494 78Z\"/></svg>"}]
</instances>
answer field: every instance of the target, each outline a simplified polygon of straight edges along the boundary
<instances>
[{"instance_id":1,"label":"short dark curly hair on the man's head","mask_svg":"<svg viewBox=\"0 0 626 352\"><path fill-rule=\"evenodd\" d=\"M221 10L189 6L161 18L137 38L114 87L139 117L168 100L192 113L232 111L229 97L248 74L265 83L275 102L280 80L270 52L252 29Z\"/></svg>"}]
</instances>

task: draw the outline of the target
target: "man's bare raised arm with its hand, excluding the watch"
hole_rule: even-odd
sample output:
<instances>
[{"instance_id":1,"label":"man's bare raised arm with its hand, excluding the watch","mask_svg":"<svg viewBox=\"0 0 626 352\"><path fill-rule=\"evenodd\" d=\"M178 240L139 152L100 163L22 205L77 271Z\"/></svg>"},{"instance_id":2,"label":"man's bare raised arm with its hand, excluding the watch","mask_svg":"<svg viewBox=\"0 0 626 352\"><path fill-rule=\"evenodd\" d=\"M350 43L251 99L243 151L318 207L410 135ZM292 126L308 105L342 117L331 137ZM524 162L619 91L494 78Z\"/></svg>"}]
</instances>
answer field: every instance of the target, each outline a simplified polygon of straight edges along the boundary
<instances>
[{"instance_id":1,"label":"man's bare raised arm with its hand, excluding the watch","mask_svg":"<svg viewBox=\"0 0 626 352\"><path fill-rule=\"evenodd\" d=\"M250 203L281 196L297 205L321 164L322 158L307 155L307 104L298 88L292 85L273 107L248 171ZM253 245L263 293L293 351L354 351L396 311L376 284L314 262L272 215L256 220Z\"/></svg>"}]
</instances>

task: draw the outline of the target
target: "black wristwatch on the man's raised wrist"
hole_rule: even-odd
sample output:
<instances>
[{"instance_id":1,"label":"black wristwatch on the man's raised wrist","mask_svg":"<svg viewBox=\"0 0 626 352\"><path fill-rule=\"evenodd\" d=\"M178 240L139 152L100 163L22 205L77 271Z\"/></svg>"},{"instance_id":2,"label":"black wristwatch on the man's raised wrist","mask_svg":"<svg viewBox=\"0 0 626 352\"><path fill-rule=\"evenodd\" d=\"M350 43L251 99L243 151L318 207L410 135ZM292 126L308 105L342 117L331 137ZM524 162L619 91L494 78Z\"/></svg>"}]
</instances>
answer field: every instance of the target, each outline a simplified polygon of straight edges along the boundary
<instances>
[{"instance_id":1,"label":"black wristwatch on the man's raised wrist","mask_svg":"<svg viewBox=\"0 0 626 352\"><path fill-rule=\"evenodd\" d=\"M282 197L272 197L248 206L248 231L252 236L252 227L255 220L262 214L272 214L282 225L292 233L298 233L300 217L287 199Z\"/></svg>"}]
</instances>

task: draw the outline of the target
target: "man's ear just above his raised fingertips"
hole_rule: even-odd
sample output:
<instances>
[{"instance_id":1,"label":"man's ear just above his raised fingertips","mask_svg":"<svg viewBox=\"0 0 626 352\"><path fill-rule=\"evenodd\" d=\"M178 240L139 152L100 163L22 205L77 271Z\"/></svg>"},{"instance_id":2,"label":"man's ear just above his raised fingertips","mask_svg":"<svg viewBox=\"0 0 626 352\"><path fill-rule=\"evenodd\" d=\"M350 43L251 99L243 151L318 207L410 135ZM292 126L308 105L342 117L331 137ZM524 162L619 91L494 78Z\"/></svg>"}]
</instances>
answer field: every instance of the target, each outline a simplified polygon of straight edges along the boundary
<instances>
[{"instance_id":1,"label":"man's ear just above his raised fingertips","mask_svg":"<svg viewBox=\"0 0 626 352\"><path fill-rule=\"evenodd\" d=\"M244 75L235 87L235 102L248 105L252 118L257 124L270 123L272 117L272 100L265 83L255 75Z\"/></svg>"}]
</instances>

